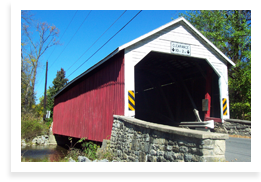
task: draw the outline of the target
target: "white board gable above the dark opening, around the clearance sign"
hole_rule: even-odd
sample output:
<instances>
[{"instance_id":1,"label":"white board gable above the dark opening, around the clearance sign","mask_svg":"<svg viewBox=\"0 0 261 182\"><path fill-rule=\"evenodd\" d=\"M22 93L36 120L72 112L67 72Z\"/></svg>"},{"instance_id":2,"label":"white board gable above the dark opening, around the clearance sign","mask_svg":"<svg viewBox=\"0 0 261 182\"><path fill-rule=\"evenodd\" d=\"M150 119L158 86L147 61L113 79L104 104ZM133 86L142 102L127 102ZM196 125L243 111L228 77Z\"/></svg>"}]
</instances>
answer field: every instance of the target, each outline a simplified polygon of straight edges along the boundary
<instances>
[{"instance_id":1,"label":"white board gable above the dark opening, around the clearance sign","mask_svg":"<svg viewBox=\"0 0 261 182\"><path fill-rule=\"evenodd\" d=\"M170 26L150 37L131 45L125 50L125 60L137 64L150 51L157 51L171 54L171 42L188 44L191 47L191 57L207 59L218 74L222 74L223 67L227 66L222 59L207 43L198 40L192 32L181 23Z\"/></svg>"}]
</instances>

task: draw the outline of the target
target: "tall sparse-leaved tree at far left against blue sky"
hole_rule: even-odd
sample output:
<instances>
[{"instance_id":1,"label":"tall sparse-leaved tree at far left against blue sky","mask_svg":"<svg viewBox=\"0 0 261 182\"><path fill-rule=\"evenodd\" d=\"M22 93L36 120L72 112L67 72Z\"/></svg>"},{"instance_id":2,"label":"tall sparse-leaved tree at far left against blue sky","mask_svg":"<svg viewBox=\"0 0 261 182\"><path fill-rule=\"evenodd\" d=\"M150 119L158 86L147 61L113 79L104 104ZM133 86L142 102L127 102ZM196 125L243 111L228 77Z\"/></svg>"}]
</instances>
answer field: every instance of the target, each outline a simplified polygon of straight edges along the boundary
<instances>
[{"instance_id":1,"label":"tall sparse-leaved tree at far left against blue sky","mask_svg":"<svg viewBox=\"0 0 261 182\"><path fill-rule=\"evenodd\" d=\"M40 58L48 48L59 44L59 30L46 22L34 21L29 11L21 11L21 19L21 107L22 112L28 112L35 104L34 87Z\"/></svg>"}]
</instances>

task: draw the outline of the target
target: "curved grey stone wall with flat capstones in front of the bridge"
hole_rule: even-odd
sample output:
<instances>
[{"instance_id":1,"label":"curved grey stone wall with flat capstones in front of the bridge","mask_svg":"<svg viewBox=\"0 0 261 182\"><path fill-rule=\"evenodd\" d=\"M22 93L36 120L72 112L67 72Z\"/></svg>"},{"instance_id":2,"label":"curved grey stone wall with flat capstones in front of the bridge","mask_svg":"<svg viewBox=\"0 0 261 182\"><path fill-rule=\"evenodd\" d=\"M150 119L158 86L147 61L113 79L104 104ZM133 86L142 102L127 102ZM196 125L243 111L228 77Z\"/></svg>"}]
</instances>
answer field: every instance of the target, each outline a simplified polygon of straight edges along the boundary
<instances>
[{"instance_id":1,"label":"curved grey stone wall with flat capstones in front of the bridge","mask_svg":"<svg viewBox=\"0 0 261 182\"><path fill-rule=\"evenodd\" d=\"M150 123L114 115L110 148L119 161L225 161L227 134Z\"/></svg>"}]
</instances>

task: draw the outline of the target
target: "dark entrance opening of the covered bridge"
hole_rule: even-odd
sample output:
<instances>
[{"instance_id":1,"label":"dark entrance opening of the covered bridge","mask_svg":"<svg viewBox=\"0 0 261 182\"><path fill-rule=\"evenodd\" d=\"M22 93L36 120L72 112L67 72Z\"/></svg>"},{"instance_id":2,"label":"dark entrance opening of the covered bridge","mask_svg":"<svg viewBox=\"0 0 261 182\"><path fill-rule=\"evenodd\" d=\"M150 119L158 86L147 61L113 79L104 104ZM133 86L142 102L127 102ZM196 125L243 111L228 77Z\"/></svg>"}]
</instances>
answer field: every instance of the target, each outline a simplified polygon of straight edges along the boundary
<instances>
[{"instance_id":1,"label":"dark entrance opening of the covered bridge","mask_svg":"<svg viewBox=\"0 0 261 182\"><path fill-rule=\"evenodd\" d=\"M219 76L200 58L150 52L135 66L135 118L170 126L220 118Z\"/></svg>"}]
</instances>

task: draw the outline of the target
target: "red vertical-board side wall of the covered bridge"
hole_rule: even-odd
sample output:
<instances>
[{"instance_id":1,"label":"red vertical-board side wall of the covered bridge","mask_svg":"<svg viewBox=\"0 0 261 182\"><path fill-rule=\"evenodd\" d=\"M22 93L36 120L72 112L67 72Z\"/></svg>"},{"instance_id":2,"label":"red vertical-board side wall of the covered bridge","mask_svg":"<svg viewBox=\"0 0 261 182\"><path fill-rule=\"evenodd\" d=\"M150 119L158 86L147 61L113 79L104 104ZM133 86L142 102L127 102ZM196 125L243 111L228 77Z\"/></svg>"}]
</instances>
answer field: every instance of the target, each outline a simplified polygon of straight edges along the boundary
<instances>
[{"instance_id":1,"label":"red vertical-board side wall of the covered bridge","mask_svg":"<svg viewBox=\"0 0 261 182\"><path fill-rule=\"evenodd\" d=\"M55 97L53 133L88 140L110 138L113 115L124 115L124 52Z\"/></svg>"}]
</instances>

